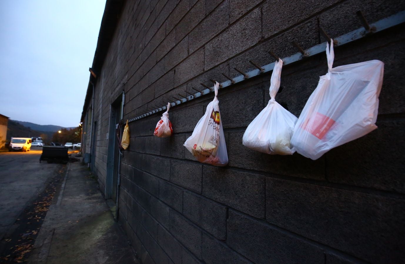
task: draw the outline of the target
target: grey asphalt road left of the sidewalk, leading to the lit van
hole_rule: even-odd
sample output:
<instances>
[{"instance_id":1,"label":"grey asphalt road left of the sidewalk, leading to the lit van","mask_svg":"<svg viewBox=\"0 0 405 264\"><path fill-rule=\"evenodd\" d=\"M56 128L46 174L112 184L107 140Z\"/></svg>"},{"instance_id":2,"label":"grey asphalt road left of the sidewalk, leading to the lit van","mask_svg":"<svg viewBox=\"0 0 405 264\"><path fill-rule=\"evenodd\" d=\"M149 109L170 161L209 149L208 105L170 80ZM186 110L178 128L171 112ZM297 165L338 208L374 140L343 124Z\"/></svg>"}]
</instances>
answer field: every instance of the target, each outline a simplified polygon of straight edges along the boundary
<instances>
[{"instance_id":1,"label":"grey asphalt road left of the sidewalk, leading to the lit van","mask_svg":"<svg viewBox=\"0 0 405 264\"><path fill-rule=\"evenodd\" d=\"M0 152L0 239L13 230L17 217L54 177L61 164L39 163L42 148Z\"/></svg>"}]
</instances>

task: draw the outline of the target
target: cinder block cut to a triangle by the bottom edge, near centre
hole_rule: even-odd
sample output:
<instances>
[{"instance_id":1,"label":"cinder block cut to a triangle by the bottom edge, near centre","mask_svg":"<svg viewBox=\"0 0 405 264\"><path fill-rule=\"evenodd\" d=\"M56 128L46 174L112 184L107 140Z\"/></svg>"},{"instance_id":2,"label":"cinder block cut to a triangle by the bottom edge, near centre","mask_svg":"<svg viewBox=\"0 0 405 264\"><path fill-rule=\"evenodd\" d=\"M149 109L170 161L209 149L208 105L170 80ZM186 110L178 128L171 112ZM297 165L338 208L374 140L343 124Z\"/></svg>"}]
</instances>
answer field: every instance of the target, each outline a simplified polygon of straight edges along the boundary
<instances>
[{"instance_id":1,"label":"cinder block cut to a triangle by the bottom edge, near centre","mask_svg":"<svg viewBox=\"0 0 405 264\"><path fill-rule=\"evenodd\" d=\"M203 260L205 263L247 264L252 263L217 239L203 233Z\"/></svg>"}]
</instances>

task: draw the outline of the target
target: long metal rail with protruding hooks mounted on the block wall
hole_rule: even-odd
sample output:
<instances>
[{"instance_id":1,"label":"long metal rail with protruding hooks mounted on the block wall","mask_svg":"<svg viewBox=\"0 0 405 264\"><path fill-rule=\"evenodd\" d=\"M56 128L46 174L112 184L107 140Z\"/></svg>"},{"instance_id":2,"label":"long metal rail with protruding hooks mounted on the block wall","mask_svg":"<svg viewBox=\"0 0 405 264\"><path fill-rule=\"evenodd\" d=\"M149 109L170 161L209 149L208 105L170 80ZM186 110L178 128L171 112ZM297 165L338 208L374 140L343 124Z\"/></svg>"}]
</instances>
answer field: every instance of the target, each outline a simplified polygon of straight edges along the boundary
<instances>
[{"instance_id":1,"label":"long metal rail with protruding hooks mounted on the block wall","mask_svg":"<svg viewBox=\"0 0 405 264\"><path fill-rule=\"evenodd\" d=\"M341 46L347 43L350 43L354 40L358 40L360 38L364 38L365 36L369 36L370 34L373 34L375 32L380 32L382 30L386 30L388 28L392 28L394 26L397 26L401 23L405 22L405 11L401 11L399 13L396 13L395 15L392 15L390 17L386 17L384 19L381 19L375 23L369 24L367 22L367 20L365 19L364 15L362 14L361 11L357 11L356 14L358 15L360 21L363 24L363 28L359 28L357 30L354 30L352 32L349 32L347 34L341 35L337 38L333 39L333 45L336 46ZM320 28L320 33L322 34L322 36L324 36L324 38L327 39L327 41L330 41L330 37L328 36L328 34L322 29ZM283 65L287 65L293 62L297 62L299 60L302 60L304 58L307 57L311 57L313 55L317 55L320 53L324 53L325 52L325 48L326 48L326 42L318 44L316 46L313 46L307 50L303 50L297 43L295 43L294 41L291 43L292 45L294 45L299 52L289 56L289 57L285 57L283 58ZM274 57L275 60L278 60L279 57L277 57L273 52L269 51L269 54ZM230 85L233 85L235 83L240 83L241 81L245 81L246 79L250 79L253 77L256 77L258 75L262 75L265 72L270 72L273 70L274 68L274 64L275 62L272 62L270 64L266 64L264 66L260 66L258 64L256 64L254 61L250 60L249 63L253 64L256 69L255 70L251 70L249 72L243 72L242 70L239 70L237 68L234 68L235 70L237 70L239 73L241 73L241 75L234 77L234 78L230 78L229 76L227 76L226 74L222 73L222 75L224 75L228 81L225 81L223 83L220 84L220 89L224 89L225 87L228 87ZM213 83L215 83L214 80L210 80ZM198 98L200 96L203 96L205 94L209 94L211 92L214 91L213 87L208 87L207 85L201 83L201 85L203 85L205 87L204 90L200 91L197 90L195 88L192 88L196 91L195 94L190 94L189 92L186 92L186 96L182 96L179 94L179 96L181 96L181 98L174 98L175 100L168 100L168 102L171 102L171 106L175 106L177 104L181 104L181 103L185 103L188 102L190 100L193 100L194 98ZM187 94L190 94L189 96L187 96ZM156 106L156 109L147 109L148 111L142 115L136 116L136 117L132 117L130 119L128 119L129 122L141 119L143 117L147 117L149 115L152 115L154 113L158 113L160 111L163 111L166 109L166 106L161 106L158 107Z\"/></svg>"}]
</instances>

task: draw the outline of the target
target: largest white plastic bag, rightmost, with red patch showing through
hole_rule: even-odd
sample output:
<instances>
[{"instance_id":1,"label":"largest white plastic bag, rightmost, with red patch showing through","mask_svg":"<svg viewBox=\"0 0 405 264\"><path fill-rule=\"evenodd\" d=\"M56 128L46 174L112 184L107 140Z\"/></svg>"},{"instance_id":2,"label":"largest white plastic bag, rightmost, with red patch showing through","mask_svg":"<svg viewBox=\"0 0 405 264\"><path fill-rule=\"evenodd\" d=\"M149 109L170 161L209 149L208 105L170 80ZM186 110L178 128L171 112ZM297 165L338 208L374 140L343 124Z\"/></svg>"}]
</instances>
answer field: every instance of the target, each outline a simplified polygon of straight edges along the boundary
<instances>
[{"instance_id":1,"label":"largest white plastic bag, rightmost, with red patch showing through","mask_svg":"<svg viewBox=\"0 0 405 264\"><path fill-rule=\"evenodd\" d=\"M384 63L371 60L332 68L333 40L330 43L328 73L320 77L291 138L297 152L312 160L377 128Z\"/></svg>"}]
</instances>

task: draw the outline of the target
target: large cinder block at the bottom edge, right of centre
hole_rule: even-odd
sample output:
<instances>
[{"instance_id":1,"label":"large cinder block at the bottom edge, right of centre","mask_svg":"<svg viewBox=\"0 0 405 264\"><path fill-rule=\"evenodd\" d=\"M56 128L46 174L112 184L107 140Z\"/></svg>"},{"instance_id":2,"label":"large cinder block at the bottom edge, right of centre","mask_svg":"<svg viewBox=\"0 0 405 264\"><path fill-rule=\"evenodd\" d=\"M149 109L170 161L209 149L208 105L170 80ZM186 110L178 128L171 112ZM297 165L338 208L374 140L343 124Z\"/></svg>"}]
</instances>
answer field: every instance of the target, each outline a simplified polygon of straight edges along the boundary
<instances>
[{"instance_id":1,"label":"large cinder block at the bottom edge, right of centre","mask_svg":"<svg viewBox=\"0 0 405 264\"><path fill-rule=\"evenodd\" d=\"M254 263L324 263L321 248L229 210L226 243Z\"/></svg>"}]
</instances>

